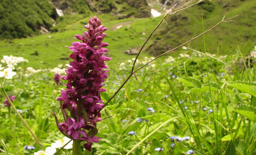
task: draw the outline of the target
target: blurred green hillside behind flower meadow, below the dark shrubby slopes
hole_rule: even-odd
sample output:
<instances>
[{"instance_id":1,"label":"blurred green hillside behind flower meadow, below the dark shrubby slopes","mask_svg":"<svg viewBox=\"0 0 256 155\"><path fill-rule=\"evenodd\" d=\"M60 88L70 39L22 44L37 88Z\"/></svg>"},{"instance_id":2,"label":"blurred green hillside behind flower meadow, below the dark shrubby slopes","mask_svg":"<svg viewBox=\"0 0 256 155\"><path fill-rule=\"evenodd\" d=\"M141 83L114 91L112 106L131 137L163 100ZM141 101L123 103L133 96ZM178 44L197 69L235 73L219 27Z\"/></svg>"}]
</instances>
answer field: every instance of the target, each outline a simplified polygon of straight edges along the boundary
<instances>
[{"instance_id":1,"label":"blurred green hillside behind flower meadow, below the dark shrubby slopes","mask_svg":"<svg viewBox=\"0 0 256 155\"><path fill-rule=\"evenodd\" d=\"M211 1L208 4L193 6L188 10L170 15L166 18L159 30L155 32L146 45L145 53L160 54L175 46L188 41L202 32L202 12L204 16L204 30L221 21L224 15L227 18L239 15L232 22L221 23L218 27L205 35L207 50L211 53L235 53L237 46L243 53L251 50L256 41L256 1ZM224 7L225 6L225 7ZM205 9L207 8L207 9ZM211 9L209 11L209 8ZM94 13L90 14L91 16ZM131 59L133 55L125 54L129 48L139 48L163 17L157 18L129 18L116 20L110 13L101 13L97 16L109 29L104 42L109 43L109 56L113 57L111 63L124 59ZM67 56L71 53L68 46L77 41L75 34L82 34L89 16L83 14L70 14L63 17L56 27L61 31L34 37L1 40L0 57L2 55L22 56L29 60L27 66L34 68L53 68L60 63L67 63ZM121 28L117 29L118 26ZM142 35L146 33L146 35ZM159 40L160 39L160 40ZM149 46L150 45L150 46ZM203 49L202 37L195 39L190 47L196 50ZM35 54L35 53L38 53ZM179 49L174 53L179 53Z\"/></svg>"}]
</instances>

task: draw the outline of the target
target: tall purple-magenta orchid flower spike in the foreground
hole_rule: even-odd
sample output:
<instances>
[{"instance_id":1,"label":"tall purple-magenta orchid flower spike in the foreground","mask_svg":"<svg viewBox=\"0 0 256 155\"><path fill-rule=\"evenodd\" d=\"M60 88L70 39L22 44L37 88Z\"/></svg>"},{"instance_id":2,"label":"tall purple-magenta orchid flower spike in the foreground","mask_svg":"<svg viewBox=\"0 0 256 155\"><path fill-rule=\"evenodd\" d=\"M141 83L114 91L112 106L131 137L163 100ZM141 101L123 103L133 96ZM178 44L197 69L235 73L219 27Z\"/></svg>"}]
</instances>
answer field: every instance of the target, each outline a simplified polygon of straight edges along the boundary
<instances>
[{"instance_id":1,"label":"tall purple-magenta orchid flower spike in the foreground","mask_svg":"<svg viewBox=\"0 0 256 155\"><path fill-rule=\"evenodd\" d=\"M80 142L86 141L84 147L91 151L92 143L98 143L101 139L95 136L98 133L96 122L102 120L99 111L104 105L100 92L106 91L101 87L109 75L104 61L111 58L103 55L108 52L104 48L108 43L102 43L107 35L103 32L107 28L101 25L100 19L95 15L84 28L88 31L82 36L75 35L81 42L72 42L70 51L73 53L69 57L73 61L67 67L67 75L62 76L63 80L67 80L67 84L64 84L66 89L61 90L61 97L56 98L61 102L64 122L59 123L55 118L59 130L65 136ZM73 118L68 116L66 109Z\"/></svg>"}]
</instances>

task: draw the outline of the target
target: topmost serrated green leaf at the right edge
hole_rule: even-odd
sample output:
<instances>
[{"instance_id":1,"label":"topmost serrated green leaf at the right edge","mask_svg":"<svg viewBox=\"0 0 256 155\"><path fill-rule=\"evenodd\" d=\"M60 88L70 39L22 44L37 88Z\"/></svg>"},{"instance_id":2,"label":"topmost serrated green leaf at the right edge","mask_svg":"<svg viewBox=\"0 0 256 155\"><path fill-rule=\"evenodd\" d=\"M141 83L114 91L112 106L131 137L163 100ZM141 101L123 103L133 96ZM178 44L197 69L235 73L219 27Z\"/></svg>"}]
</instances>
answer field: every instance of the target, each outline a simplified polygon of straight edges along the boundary
<instances>
[{"instance_id":1,"label":"topmost serrated green leaf at the right edge","mask_svg":"<svg viewBox=\"0 0 256 155\"><path fill-rule=\"evenodd\" d=\"M230 83L230 85L240 91L256 97L256 82L236 81Z\"/></svg>"}]
</instances>

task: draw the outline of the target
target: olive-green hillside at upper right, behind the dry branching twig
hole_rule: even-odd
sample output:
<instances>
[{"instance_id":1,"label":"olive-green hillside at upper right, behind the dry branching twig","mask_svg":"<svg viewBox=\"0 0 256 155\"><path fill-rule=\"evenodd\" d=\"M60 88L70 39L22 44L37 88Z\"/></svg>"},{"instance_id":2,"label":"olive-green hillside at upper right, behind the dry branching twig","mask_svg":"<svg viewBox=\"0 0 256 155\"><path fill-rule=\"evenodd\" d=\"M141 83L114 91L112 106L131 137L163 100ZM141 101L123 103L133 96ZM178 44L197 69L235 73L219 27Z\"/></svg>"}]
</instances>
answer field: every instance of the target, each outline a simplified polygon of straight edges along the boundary
<instances>
[{"instance_id":1,"label":"olive-green hillside at upper right, behind the dry branching twig","mask_svg":"<svg viewBox=\"0 0 256 155\"><path fill-rule=\"evenodd\" d=\"M202 33L202 13L204 30L208 30L226 19L239 15L232 22L221 23L205 34L207 50L210 53L227 54L239 46L244 54L254 48L256 43L256 1L255 0L214 0L203 1L197 6L178 12L166 19L167 24L154 35L154 44L148 51L154 55L166 52ZM202 37L190 44L191 48L204 49Z\"/></svg>"}]
</instances>

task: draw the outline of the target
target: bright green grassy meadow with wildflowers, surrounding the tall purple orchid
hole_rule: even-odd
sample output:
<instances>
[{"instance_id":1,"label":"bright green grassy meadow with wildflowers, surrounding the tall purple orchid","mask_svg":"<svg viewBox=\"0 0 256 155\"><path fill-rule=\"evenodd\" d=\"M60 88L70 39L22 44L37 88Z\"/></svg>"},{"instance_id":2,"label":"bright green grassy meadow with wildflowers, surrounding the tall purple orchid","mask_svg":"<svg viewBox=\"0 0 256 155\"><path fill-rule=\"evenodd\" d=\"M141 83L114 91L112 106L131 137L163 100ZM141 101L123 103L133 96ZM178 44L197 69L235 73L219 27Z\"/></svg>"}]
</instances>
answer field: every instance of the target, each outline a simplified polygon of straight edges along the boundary
<instances>
[{"instance_id":1,"label":"bright green grassy meadow with wildflowers, surrounding the tall purple orchid","mask_svg":"<svg viewBox=\"0 0 256 155\"><path fill-rule=\"evenodd\" d=\"M245 8L252 9L255 5L255 1L251 1L225 13L230 18L239 9L245 13ZM216 6L214 13L221 13L217 17L209 13L209 19L202 21L200 11L195 16L191 15L196 7L189 8L184 14L179 13L176 23L181 27L173 25L175 21L172 23L170 19L174 16L167 17L167 24L161 24L144 49L152 44L167 47L171 47L167 44L179 45L202 33L202 24L206 31L225 15ZM189 17L189 23L179 21L179 17L184 16ZM163 16L116 20L110 14L103 13L97 17L108 28L103 42L109 43L107 56L112 57L107 62L110 75L103 86L107 91L100 93L101 99L106 102L130 75L135 55L124 52L129 48L140 48ZM245 17L237 17L238 21L232 19L235 23L239 22L238 28L243 27L241 31L236 27L231 32L236 24L221 23L209 34L136 71L136 77L132 75L101 111L101 118L108 118L98 123L96 136L102 140L93 143L92 154L255 155L256 56L249 60L245 56L256 51L256 31L252 29L255 21ZM75 34L81 35L85 31L84 24L88 20L82 14L70 14L57 23L56 27L61 29L59 32L0 41L0 60L3 55L21 56L28 60L15 66L16 75L12 79L0 77L1 89L8 95L16 96L13 105L42 144L31 136L16 111L4 106L6 99L1 91L0 155L7 154L3 151L14 155L32 155L64 137L56 126L52 112L61 122L63 116L56 97L61 96L61 90L66 86L56 84L53 77L56 72L66 75L65 64L72 61L68 58L72 53L68 46L77 41ZM186 26L183 27L184 24ZM166 27L170 30L166 31ZM161 38L166 35L170 35L170 40ZM161 40L156 42L159 37ZM228 40L227 45L225 40ZM135 70L154 59L149 53L150 49L141 52ZM163 51L154 54L161 53ZM5 63L0 64L0 68L6 66ZM61 82L65 84L67 81ZM35 148L25 149L26 145ZM82 145L80 149L83 155L88 154ZM72 155L72 149L62 149L57 154Z\"/></svg>"}]
</instances>

